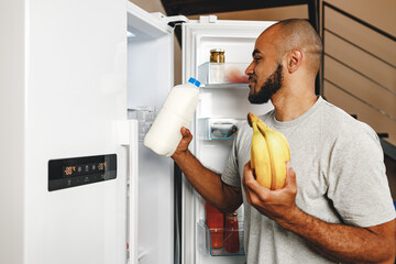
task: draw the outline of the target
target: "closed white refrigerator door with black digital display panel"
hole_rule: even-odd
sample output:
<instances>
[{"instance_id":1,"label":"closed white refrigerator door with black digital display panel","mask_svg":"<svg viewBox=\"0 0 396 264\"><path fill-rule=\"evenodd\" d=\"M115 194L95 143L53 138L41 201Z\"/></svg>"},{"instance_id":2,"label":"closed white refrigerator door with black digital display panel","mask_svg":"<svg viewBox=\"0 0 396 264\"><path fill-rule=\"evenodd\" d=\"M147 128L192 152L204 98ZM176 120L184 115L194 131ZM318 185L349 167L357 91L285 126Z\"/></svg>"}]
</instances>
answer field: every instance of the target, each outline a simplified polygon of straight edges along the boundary
<instances>
[{"instance_id":1,"label":"closed white refrigerator door with black digital display panel","mask_svg":"<svg viewBox=\"0 0 396 264\"><path fill-rule=\"evenodd\" d=\"M18 64L0 53L10 80L0 96L10 106L0 114L10 128L0 143L0 263L125 263L127 156L114 125L127 119L125 1L16 0L0 16L1 32L16 36L1 42L18 50ZM56 170L78 186L51 190L51 161L108 154L116 178L80 160L89 166L79 176L67 163Z\"/></svg>"}]
</instances>

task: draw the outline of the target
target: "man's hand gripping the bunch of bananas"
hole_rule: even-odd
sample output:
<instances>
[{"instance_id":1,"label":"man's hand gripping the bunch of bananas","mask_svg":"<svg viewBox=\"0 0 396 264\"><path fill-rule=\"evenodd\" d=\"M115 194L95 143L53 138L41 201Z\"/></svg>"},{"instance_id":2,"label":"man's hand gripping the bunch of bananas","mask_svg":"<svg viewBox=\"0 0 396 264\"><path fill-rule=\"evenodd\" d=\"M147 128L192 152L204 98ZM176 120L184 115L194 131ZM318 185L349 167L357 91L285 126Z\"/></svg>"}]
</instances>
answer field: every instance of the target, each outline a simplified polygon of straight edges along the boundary
<instances>
[{"instance_id":1,"label":"man's hand gripping the bunch of bananas","mask_svg":"<svg viewBox=\"0 0 396 264\"><path fill-rule=\"evenodd\" d=\"M282 189L270 190L260 185L253 176L250 161L244 166L242 178L248 202L280 226L293 219L299 210L296 206L296 174L289 163L285 166L287 166L287 176Z\"/></svg>"}]
</instances>

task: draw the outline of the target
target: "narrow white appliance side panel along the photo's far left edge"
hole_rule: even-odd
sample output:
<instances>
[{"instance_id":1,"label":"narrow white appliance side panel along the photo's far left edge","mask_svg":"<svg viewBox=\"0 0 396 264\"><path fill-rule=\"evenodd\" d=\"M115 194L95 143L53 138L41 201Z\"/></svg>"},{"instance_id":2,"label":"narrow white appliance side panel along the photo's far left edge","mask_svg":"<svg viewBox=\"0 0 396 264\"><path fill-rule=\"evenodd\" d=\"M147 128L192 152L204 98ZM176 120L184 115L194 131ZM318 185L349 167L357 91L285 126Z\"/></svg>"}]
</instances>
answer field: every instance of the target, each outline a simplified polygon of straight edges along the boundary
<instances>
[{"instance_id":1,"label":"narrow white appliance side panel along the photo's far left edge","mask_svg":"<svg viewBox=\"0 0 396 264\"><path fill-rule=\"evenodd\" d=\"M0 1L0 263L23 262L24 1Z\"/></svg>"}]
</instances>

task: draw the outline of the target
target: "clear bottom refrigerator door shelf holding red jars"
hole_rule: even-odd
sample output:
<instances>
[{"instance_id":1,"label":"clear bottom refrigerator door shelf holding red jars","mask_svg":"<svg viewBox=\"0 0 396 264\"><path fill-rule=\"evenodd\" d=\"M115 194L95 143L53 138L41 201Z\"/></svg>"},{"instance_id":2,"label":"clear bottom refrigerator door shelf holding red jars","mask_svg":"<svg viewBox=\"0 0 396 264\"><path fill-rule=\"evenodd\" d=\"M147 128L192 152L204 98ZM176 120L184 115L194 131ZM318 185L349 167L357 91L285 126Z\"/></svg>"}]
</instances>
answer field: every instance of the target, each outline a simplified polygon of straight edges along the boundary
<instances>
[{"instance_id":1,"label":"clear bottom refrigerator door shelf holding red jars","mask_svg":"<svg viewBox=\"0 0 396 264\"><path fill-rule=\"evenodd\" d=\"M221 229L210 229L206 224L204 220L200 220L197 223L197 232L198 232L198 248L199 251L201 251L205 255L211 255L211 256L238 256L238 255L244 255L244 249L243 249L243 222L239 222L239 230L238 231L231 231L231 232L238 232L238 243L239 243L239 250L232 252L228 252L227 249L234 248L235 245L235 238L232 235L230 231L228 231L224 228ZM212 248L212 238L213 233L221 233L222 238L222 246L215 249ZM232 238L233 237L233 238ZM233 240L233 241L231 241ZM233 244L233 245L230 245ZM237 244L238 246L238 244Z\"/></svg>"}]
</instances>

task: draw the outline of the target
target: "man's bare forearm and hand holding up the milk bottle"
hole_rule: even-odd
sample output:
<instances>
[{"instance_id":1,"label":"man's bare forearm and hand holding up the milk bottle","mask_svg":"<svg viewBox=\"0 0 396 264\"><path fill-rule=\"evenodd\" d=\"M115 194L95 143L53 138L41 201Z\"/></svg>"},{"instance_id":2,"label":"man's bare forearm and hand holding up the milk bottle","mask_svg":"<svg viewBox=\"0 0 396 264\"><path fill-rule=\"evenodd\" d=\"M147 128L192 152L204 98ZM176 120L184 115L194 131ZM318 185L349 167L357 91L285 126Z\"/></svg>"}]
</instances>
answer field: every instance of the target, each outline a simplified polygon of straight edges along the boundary
<instances>
[{"instance_id":1,"label":"man's bare forearm and hand holding up the milk bottle","mask_svg":"<svg viewBox=\"0 0 396 264\"><path fill-rule=\"evenodd\" d=\"M183 139L172 158L207 201L223 212L237 210L242 204L241 188L224 184L219 174L206 168L191 154L188 145L193 135L188 129L182 128L182 135Z\"/></svg>"}]
</instances>

